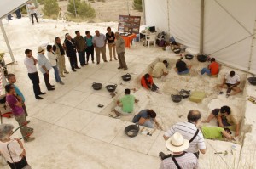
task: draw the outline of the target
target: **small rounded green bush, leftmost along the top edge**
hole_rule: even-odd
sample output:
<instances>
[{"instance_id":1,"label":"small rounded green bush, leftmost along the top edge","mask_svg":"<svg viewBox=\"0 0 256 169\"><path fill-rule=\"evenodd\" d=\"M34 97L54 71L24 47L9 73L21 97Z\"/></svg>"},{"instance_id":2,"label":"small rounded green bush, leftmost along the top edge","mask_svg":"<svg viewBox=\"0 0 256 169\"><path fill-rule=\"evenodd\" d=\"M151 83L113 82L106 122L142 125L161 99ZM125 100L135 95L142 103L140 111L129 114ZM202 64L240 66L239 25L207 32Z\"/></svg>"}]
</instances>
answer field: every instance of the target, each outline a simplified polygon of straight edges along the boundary
<instances>
[{"instance_id":1,"label":"small rounded green bush, leftmost along the top edge","mask_svg":"<svg viewBox=\"0 0 256 169\"><path fill-rule=\"evenodd\" d=\"M59 14L60 7L57 0L44 0L43 12L46 16Z\"/></svg>"}]
</instances>

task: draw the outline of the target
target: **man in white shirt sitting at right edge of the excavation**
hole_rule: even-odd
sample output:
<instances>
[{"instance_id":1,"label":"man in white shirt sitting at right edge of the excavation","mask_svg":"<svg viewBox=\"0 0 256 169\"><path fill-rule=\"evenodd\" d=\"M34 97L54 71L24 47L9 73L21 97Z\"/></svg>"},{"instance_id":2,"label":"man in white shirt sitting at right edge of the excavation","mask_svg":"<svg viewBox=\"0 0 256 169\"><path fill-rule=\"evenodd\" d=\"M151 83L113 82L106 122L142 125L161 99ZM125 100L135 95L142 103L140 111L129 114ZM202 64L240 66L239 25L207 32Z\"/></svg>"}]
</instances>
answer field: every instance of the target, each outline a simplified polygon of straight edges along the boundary
<instances>
[{"instance_id":1,"label":"man in white shirt sitting at right edge of the excavation","mask_svg":"<svg viewBox=\"0 0 256 169\"><path fill-rule=\"evenodd\" d=\"M237 87L239 84L240 76L238 76L235 71L230 71L230 73L224 77L223 83L218 85L218 87L227 88L226 97L228 98L230 95L241 93L241 88ZM232 90L234 91L233 93L231 93Z\"/></svg>"}]
</instances>

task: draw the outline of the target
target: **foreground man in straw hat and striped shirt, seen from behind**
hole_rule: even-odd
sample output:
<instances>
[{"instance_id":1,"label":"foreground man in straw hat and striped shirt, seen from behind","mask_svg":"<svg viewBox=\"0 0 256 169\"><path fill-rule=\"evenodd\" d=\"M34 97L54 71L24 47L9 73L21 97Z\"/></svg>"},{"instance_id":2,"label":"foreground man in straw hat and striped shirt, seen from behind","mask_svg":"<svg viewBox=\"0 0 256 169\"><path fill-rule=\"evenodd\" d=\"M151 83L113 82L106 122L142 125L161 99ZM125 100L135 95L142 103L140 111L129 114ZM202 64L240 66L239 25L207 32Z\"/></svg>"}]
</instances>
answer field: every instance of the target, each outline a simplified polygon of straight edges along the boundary
<instances>
[{"instance_id":1,"label":"foreground man in straw hat and striped shirt, seen from behind","mask_svg":"<svg viewBox=\"0 0 256 169\"><path fill-rule=\"evenodd\" d=\"M175 132L171 138L166 141L166 147L172 154L162 158L160 169L195 169L198 168L198 160L193 153L187 153L184 150L189 148L189 140Z\"/></svg>"}]
</instances>

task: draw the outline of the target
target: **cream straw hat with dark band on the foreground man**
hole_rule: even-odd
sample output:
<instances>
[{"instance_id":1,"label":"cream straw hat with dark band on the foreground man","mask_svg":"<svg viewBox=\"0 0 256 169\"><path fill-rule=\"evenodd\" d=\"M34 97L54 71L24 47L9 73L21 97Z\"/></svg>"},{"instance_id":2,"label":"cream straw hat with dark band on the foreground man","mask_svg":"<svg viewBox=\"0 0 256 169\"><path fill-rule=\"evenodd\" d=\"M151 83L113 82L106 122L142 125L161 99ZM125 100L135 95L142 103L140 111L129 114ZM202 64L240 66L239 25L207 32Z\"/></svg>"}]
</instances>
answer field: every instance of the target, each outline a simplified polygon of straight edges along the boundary
<instances>
[{"instance_id":1,"label":"cream straw hat with dark band on the foreground man","mask_svg":"<svg viewBox=\"0 0 256 169\"><path fill-rule=\"evenodd\" d=\"M180 133L175 132L172 137L166 141L166 147L172 152L181 152L189 148L189 140L184 139Z\"/></svg>"}]
</instances>

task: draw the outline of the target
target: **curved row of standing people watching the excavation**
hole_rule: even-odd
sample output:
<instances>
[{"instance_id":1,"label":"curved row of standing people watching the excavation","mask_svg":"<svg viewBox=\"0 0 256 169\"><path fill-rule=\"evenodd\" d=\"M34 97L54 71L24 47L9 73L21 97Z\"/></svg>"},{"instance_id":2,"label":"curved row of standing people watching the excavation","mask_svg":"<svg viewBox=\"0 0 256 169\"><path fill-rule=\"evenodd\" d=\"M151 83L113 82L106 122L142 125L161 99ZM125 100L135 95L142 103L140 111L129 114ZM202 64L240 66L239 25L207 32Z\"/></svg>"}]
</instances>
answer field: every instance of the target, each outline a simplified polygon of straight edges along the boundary
<instances>
[{"instance_id":1,"label":"curved row of standing people watching the excavation","mask_svg":"<svg viewBox=\"0 0 256 169\"><path fill-rule=\"evenodd\" d=\"M90 35L90 31L85 31L85 36L82 37L79 31L75 31L76 37L72 38L69 33L66 33L65 40L61 43L60 37L55 37L54 45L47 45L45 54L44 47L38 47L38 58L32 56L32 50L26 49L26 58L24 64L26 65L28 76L33 84L33 91L36 99L44 99L41 95L45 94L41 91L39 86L38 69L44 75L45 86L49 91L55 90L55 85L49 82L49 70L53 68L55 74L55 82L64 85L61 77L68 74L65 64L65 54L69 59L71 69L73 72L81 69L78 65L77 53L79 56L79 63L81 67L88 65L91 62L94 64L94 50L96 51L96 64L101 62L101 54L104 62L108 62L106 57L106 44L108 42L109 61L113 59L119 60L118 69L127 70L128 67L125 62L125 41L120 37L119 32L113 33L111 28L107 28L106 35L95 31L95 36ZM86 59L85 59L86 54ZM116 57L116 54L118 57ZM48 59L47 59L48 58Z\"/></svg>"}]
</instances>

